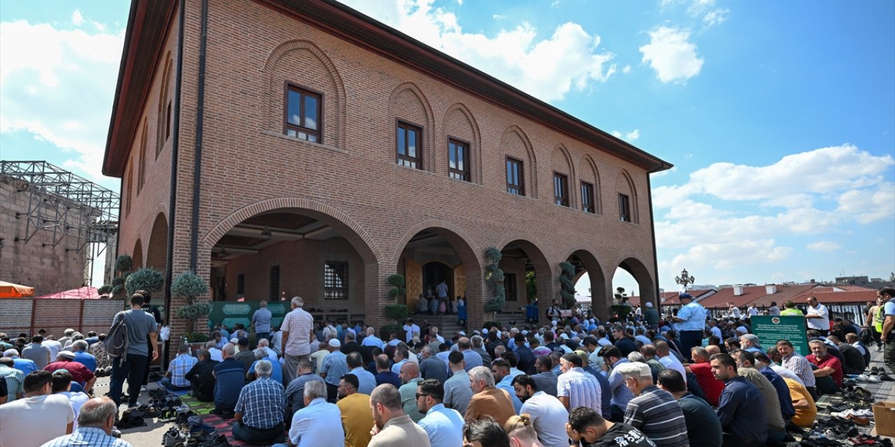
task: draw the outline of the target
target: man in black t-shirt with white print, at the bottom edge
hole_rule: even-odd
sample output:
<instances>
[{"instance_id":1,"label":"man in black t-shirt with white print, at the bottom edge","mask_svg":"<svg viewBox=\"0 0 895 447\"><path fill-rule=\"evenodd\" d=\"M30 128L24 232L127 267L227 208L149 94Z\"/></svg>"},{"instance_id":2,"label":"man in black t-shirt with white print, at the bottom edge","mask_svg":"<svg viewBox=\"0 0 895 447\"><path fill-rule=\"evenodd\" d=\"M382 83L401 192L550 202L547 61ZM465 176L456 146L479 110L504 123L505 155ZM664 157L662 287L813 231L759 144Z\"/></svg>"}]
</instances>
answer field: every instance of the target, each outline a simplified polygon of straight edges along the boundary
<instances>
[{"instance_id":1,"label":"man in black t-shirt with white print, at the bottom edge","mask_svg":"<svg viewBox=\"0 0 895 447\"><path fill-rule=\"evenodd\" d=\"M655 447L656 444L633 426L611 422L593 409L577 407L568 414L566 434L585 447Z\"/></svg>"}]
</instances>

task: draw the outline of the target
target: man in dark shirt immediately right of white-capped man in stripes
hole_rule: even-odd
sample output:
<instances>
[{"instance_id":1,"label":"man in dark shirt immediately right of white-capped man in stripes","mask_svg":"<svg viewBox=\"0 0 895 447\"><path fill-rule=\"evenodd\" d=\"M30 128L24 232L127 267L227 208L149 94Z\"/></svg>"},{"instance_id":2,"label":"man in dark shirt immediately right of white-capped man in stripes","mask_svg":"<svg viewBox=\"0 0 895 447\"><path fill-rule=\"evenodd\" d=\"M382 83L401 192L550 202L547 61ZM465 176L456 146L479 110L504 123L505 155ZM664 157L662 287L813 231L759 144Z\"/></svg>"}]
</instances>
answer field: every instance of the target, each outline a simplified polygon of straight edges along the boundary
<instances>
[{"instance_id":1,"label":"man in dark shirt immediately right of white-capped man in stripes","mask_svg":"<svg viewBox=\"0 0 895 447\"><path fill-rule=\"evenodd\" d=\"M678 401L691 446L720 447L723 432L718 417L709 404L686 391L683 375L674 369L664 369L659 373L656 385Z\"/></svg>"}]
</instances>

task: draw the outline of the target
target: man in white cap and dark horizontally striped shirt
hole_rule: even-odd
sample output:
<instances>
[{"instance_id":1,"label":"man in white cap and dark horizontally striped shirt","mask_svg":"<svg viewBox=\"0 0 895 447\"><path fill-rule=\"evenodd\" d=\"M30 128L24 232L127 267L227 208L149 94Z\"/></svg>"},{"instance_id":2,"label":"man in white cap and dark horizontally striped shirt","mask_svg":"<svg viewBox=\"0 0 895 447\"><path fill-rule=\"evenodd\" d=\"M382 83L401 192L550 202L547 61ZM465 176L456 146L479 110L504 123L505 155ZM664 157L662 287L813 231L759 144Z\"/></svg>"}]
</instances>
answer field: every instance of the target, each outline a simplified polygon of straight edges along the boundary
<instances>
[{"instance_id":1,"label":"man in white cap and dark horizontally striped shirt","mask_svg":"<svg viewBox=\"0 0 895 447\"><path fill-rule=\"evenodd\" d=\"M650 366L630 362L618 366L635 398L627 402L625 424L644 432L657 447L689 447L686 419L674 396L652 384Z\"/></svg>"}]
</instances>

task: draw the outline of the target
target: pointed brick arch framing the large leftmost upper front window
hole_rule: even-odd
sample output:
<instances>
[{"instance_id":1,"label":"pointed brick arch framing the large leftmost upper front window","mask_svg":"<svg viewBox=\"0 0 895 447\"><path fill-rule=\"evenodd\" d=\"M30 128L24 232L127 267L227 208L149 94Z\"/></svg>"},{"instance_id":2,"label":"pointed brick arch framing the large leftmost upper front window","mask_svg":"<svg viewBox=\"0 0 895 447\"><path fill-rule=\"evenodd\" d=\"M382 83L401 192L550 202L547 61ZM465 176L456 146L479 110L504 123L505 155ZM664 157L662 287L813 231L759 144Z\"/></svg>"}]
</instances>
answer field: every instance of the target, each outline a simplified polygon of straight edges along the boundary
<instances>
[{"instance_id":1,"label":"pointed brick arch framing the large leftmost upper front window","mask_svg":"<svg viewBox=\"0 0 895 447\"><path fill-rule=\"evenodd\" d=\"M288 79L279 79L275 76L275 68L280 59L294 51L306 50L314 55L320 64L328 73L328 80L332 82L332 87L336 92L335 97L323 98L323 128L321 131L324 139L323 142L329 146L345 149L345 82L336 69L336 64L328 58L328 56L314 45L311 41L295 39L287 40L276 46L270 51L268 58L264 61L263 72L267 78L268 85L268 122L283 122L283 89L284 82ZM335 103L335 104L330 104ZM282 131L281 129L279 131ZM330 141L335 139L336 141Z\"/></svg>"}]
</instances>

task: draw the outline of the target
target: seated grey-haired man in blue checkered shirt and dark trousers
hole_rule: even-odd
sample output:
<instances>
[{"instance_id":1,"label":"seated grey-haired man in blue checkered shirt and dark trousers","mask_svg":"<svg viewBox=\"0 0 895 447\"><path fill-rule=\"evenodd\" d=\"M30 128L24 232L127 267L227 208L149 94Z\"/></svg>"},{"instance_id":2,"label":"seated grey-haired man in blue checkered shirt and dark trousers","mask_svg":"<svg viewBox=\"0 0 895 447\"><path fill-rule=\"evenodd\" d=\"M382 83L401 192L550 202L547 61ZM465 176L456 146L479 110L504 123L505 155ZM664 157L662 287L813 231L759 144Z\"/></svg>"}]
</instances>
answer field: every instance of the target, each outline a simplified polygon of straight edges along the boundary
<instances>
[{"instance_id":1,"label":"seated grey-haired man in blue checkered shirt and dark trousers","mask_svg":"<svg viewBox=\"0 0 895 447\"><path fill-rule=\"evenodd\" d=\"M283 384L270 377L272 372L270 361L259 360L255 365L258 380L245 385L239 392L233 426L233 437L239 441L282 443L286 437L283 426L286 394Z\"/></svg>"}]
</instances>

